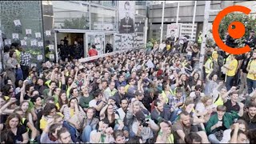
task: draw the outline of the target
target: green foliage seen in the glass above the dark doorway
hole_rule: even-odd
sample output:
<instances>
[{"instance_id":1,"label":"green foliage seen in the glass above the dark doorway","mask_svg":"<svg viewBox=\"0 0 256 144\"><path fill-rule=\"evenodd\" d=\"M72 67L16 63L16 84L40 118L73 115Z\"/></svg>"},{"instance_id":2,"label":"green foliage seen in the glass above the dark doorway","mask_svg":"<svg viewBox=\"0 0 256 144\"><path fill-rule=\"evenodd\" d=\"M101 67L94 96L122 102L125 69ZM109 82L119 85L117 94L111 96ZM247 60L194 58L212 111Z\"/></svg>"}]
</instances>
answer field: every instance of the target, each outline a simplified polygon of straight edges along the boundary
<instances>
[{"instance_id":1,"label":"green foliage seen in the glass above the dark doorway","mask_svg":"<svg viewBox=\"0 0 256 144\"><path fill-rule=\"evenodd\" d=\"M89 21L88 19L82 15L81 18L72 18L71 21L65 20L64 26L61 25L62 29L89 29Z\"/></svg>"}]
</instances>

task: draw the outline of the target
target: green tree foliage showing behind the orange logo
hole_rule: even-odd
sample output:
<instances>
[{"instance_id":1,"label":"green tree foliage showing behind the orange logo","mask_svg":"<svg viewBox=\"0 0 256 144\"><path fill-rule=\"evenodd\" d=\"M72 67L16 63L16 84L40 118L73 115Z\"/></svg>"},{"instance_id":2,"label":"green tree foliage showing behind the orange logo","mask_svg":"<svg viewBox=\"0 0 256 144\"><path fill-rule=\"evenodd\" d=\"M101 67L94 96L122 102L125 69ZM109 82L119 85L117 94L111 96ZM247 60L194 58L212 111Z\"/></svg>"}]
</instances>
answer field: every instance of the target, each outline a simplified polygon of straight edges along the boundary
<instances>
[{"instance_id":1,"label":"green tree foliage showing behind the orange logo","mask_svg":"<svg viewBox=\"0 0 256 144\"><path fill-rule=\"evenodd\" d=\"M225 38L225 34L228 30L228 26L230 25L230 23L235 21L242 22L246 27L246 34L243 38L248 37L250 34L250 30L255 30L256 28L256 19L254 19L251 15L230 13L222 19L222 22L219 25L219 34L222 39ZM238 40L238 42L240 41L241 40Z\"/></svg>"}]
</instances>

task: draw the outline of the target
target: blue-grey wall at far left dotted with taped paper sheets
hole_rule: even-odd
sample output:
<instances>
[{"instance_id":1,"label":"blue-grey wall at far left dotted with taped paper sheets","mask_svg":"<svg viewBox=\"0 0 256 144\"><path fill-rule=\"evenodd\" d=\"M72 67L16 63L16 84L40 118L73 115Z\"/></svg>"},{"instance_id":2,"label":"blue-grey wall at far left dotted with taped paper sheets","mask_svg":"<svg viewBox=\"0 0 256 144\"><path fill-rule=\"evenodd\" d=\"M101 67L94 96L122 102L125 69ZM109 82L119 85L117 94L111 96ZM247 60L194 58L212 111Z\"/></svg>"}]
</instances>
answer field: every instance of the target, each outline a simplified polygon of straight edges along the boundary
<instances>
[{"instance_id":1,"label":"blue-grey wall at far left dotted with taped paper sheets","mask_svg":"<svg viewBox=\"0 0 256 144\"><path fill-rule=\"evenodd\" d=\"M27 46L22 46L32 55L32 62L37 63L38 54L43 54L43 48L30 46L31 40L35 40L35 33L41 33L44 41L42 28L42 8L40 1L0 1L0 18L3 38L11 39L11 42L25 40ZM14 20L20 20L21 26L15 26ZM26 29L31 29L32 34L26 35ZM12 34L18 34L18 39L13 39ZM27 39L26 39L26 38Z\"/></svg>"}]
</instances>

